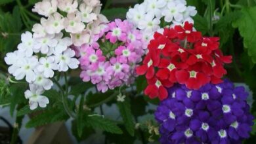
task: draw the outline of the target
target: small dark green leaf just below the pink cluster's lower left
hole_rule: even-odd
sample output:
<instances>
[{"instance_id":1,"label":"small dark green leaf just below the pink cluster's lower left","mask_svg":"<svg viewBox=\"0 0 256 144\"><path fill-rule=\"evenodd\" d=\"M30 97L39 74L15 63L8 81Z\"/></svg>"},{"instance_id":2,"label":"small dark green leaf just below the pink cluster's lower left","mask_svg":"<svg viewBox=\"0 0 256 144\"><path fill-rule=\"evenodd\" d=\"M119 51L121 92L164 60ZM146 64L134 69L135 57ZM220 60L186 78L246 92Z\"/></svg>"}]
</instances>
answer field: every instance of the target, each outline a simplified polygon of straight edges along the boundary
<instances>
[{"instance_id":1,"label":"small dark green leaf just below the pink cluster's lower left","mask_svg":"<svg viewBox=\"0 0 256 144\"><path fill-rule=\"evenodd\" d=\"M77 96L79 94L85 93L92 86L93 85L89 82L81 82L79 84L76 84L75 86L71 86L70 94Z\"/></svg>"}]
</instances>

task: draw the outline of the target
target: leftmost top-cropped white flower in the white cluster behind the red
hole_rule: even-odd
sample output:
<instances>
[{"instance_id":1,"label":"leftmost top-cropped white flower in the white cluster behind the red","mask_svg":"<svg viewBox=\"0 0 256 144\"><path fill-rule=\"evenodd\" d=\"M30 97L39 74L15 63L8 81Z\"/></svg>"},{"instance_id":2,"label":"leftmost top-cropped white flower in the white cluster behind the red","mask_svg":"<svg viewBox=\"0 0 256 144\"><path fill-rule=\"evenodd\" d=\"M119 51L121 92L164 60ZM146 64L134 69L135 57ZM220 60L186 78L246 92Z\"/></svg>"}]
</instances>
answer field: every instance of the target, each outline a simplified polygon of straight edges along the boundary
<instances>
[{"instance_id":1,"label":"leftmost top-cropped white flower in the white cluster behind the red","mask_svg":"<svg viewBox=\"0 0 256 144\"><path fill-rule=\"evenodd\" d=\"M146 0L146 12L154 14L157 18L161 17L161 9L165 7L165 0Z\"/></svg>"}]
</instances>

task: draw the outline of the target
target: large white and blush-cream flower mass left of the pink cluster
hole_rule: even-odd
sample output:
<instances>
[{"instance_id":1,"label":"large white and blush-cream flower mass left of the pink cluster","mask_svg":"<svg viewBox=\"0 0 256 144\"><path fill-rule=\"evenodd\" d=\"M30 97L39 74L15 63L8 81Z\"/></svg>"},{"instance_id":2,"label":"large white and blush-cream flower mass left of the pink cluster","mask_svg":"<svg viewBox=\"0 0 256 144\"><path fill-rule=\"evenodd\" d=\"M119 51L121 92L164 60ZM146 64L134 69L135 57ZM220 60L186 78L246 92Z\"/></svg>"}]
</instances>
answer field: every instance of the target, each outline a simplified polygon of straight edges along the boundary
<instances>
[{"instance_id":1,"label":"large white and blush-cream flower mass left of the pink cluster","mask_svg":"<svg viewBox=\"0 0 256 144\"><path fill-rule=\"evenodd\" d=\"M108 22L100 9L99 0L84 0L81 4L77 0L43 0L35 4L33 12L46 18L33 26L33 33L23 33L18 50L5 57L9 73L18 81L25 78L30 84L30 90L25 92L30 109L49 103L41 94L52 88L54 71L66 72L79 66L71 46L89 43L90 35L100 33L99 27ZM66 13L66 17L60 13ZM64 37L66 33L70 37Z\"/></svg>"}]
</instances>

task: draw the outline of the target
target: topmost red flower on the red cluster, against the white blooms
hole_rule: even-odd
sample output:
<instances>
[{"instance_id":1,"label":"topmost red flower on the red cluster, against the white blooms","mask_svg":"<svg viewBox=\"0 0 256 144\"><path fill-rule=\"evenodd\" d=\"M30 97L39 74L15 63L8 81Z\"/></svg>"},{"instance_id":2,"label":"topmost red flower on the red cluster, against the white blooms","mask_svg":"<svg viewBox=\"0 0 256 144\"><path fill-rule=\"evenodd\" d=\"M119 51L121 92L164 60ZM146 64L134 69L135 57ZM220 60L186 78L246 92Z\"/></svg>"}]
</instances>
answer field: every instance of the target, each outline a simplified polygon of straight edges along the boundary
<instances>
[{"instance_id":1,"label":"topmost red flower on the red cluster, against the white blooms","mask_svg":"<svg viewBox=\"0 0 256 144\"><path fill-rule=\"evenodd\" d=\"M202 38L202 34L200 32L193 31L193 24L190 24L189 22L185 22L184 27L175 26L175 30L178 32L179 39L187 39L190 43L194 43Z\"/></svg>"}]
</instances>

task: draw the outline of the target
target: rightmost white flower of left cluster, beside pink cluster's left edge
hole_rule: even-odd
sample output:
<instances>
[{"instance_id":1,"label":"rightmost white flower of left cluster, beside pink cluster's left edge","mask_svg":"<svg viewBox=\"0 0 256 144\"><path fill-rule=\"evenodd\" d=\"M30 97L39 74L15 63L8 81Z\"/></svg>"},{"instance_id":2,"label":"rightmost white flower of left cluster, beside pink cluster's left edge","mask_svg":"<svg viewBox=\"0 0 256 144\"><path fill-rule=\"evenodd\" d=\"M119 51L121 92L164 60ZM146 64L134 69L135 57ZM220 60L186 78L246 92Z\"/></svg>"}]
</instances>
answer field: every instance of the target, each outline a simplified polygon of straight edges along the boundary
<instances>
[{"instance_id":1,"label":"rightmost white flower of left cluster, beside pink cluster's left edge","mask_svg":"<svg viewBox=\"0 0 256 144\"><path fill-rule=\"evenodd\" d=\"M79 61L75 58L75 51L68 48L62 54L55 54L56 63L58 63L58 71L68 71L70 69L76 69L79 65Z\"/></svg>"}]
</instances>

